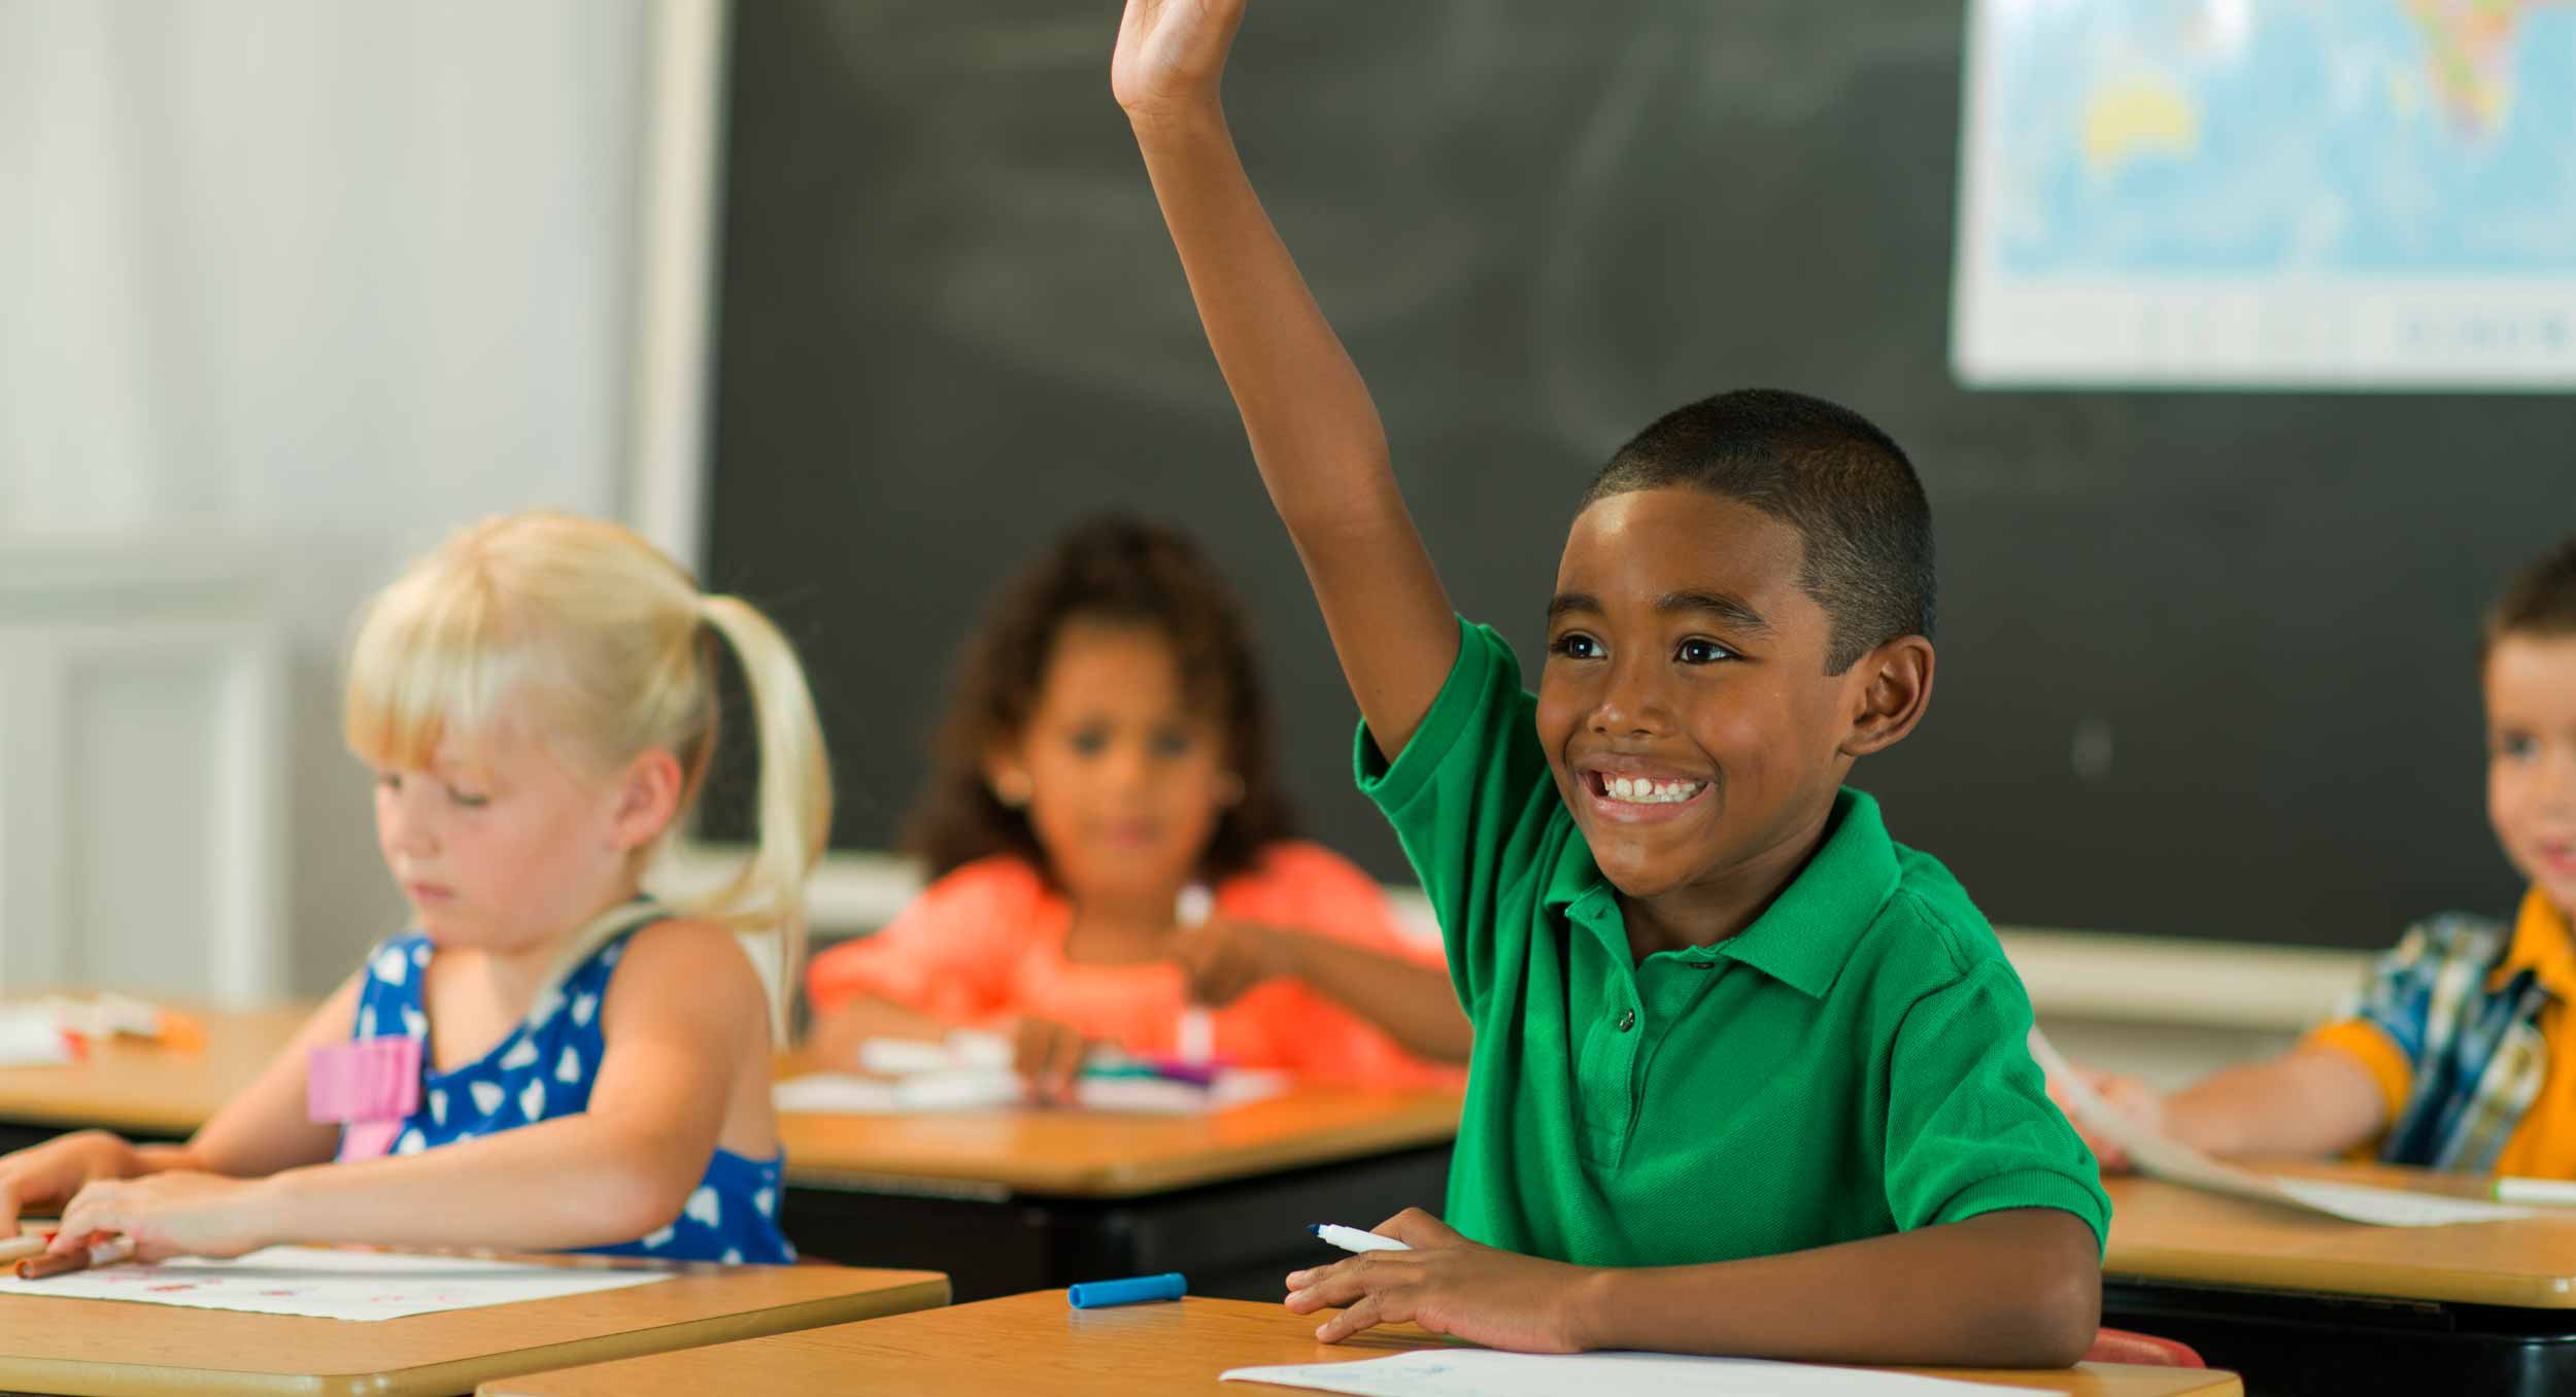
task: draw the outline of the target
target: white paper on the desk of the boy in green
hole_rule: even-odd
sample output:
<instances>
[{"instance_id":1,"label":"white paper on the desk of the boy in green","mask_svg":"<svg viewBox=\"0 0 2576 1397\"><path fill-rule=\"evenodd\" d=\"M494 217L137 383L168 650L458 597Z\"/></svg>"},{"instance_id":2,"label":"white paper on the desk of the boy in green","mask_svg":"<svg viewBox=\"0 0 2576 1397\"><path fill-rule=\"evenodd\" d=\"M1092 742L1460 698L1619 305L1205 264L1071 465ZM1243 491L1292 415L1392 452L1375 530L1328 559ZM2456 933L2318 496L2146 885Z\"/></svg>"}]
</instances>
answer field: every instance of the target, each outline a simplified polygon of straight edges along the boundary
<instances>
[{"instance_id":1,"label":"white paper on the desk of the boy in green","mask_svg":"<svg viewBox=\"0 0 2576 1397\"><path fill-rule=\"evenodd\" d=\"M1419 1348L1355 1363L1231 1369L1218 1379L1275 1382L1358 1397L1564 1397L1566 1392L1618 1392L1620 1397L2030 1397L2035 1392L2030 1387L1989 1387L1870 1369L1811 1369L1754 1358L1494 1353L1489 1348Z\"/></svg>"}]
</instances>

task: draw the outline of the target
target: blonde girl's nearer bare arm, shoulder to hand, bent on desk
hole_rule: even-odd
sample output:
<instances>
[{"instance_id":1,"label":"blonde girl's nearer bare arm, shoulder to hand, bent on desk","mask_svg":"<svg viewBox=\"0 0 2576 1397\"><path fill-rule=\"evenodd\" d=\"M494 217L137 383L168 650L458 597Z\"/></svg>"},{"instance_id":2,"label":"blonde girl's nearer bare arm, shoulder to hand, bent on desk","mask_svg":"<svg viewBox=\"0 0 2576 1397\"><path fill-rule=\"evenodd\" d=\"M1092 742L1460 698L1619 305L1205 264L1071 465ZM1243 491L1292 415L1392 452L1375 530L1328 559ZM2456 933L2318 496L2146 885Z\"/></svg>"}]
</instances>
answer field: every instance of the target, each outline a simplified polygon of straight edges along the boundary
<instances>
[{"instance_id":1,"label":"blonde girl's nearer bare arm, shoulder to hand, bent on desk","mask_svg":"<svg viewBox=\"0 0 2576 1397\"><path fill-rule=\"evenodd\" d=\"M768 997L732 933L662 923L626 946L600 1005L590 1108L500 1134L237 1183L95 1183L57 1248L126 1232L144 1258L273 1242L556 1250L631 1242L680 1217L737 1095L768 1085Z\"/></svg>"}]
</instances>

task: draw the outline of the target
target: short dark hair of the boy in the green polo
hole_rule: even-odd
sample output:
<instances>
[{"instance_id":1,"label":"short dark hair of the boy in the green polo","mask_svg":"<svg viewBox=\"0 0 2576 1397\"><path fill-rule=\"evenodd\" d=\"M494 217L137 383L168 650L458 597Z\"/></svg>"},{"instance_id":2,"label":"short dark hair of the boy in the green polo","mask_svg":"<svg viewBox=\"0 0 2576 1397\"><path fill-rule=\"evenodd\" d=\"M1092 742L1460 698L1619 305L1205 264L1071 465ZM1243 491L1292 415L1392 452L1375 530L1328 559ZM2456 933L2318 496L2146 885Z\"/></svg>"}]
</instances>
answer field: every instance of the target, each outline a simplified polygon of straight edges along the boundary
<instances>
[{"instance_id":1,"label":"short dark hair of the boy in the green polo","mask_svg":"<svg viewBox=\"0 0 2576 1397\"><path fill-rule=\"evenodd\" d=\"M1860 412L1780 389L1703 397L1620 446L1584 505L1674 485L1741 500L1806 539L1798 585L1834 626L1824 673L1896 637L1932 637L1932 503Z\"/></svg>"}]
</instances>

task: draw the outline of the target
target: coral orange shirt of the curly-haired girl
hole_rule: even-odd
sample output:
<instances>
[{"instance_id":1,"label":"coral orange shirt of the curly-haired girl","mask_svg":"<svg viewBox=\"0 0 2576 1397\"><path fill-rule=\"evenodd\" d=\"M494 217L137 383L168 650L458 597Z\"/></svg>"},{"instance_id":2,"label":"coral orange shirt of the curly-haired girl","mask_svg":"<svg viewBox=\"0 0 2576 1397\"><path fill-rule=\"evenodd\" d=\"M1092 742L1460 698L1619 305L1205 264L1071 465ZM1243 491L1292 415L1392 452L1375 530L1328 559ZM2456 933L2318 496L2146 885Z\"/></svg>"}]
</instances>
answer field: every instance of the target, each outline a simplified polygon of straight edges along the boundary
<instances>
[{"instance_id":1,"label":"coral orange shirt of the curly-haired girl","mask_svg":"<svg viewBox=\"0 0 2576 1397\"><path fill-rule=\"evenodd\" d=\"M1350 941L1440 969L1440 949L1404 936L1386 894L1350 861L1275 843L1257 869L1213 889L1216 915ZM1074 964L1074 910L1020 858L981 858L922 889L876 936L848 941L806 969L814 1013L876 995L958 1026L1054 1018L1133 1054L1177 1049L1188 1008L1170 961ZM1216 1057L1337 1085L1458 1085L1463 1070L1406 1054L1378 1026L1298 979L1255 985L1208 1013Z\"/></svg>"}]
</instances>

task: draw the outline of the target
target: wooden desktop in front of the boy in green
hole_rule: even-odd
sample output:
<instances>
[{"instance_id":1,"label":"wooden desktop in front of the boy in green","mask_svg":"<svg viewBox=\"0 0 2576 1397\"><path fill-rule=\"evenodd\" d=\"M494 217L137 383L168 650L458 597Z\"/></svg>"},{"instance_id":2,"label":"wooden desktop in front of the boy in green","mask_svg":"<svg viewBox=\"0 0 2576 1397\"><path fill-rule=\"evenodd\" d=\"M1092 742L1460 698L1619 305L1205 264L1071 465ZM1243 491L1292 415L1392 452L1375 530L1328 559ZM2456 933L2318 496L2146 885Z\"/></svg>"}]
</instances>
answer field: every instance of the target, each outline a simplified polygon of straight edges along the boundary
<instances>
[{"instance_id":1,"label":"wooden desktop in front of the boy in green","mask_svg":"<svg viewBox=\"0 0 2576 1397\"><path fill-rule=\"evenodd\" d=\"M1218 1384L1226 1369L1383 1358L1437 1345L1399 1325L1340 1345L1314 1340L1314 1320L1278 1304L1185 1299L1069 1309L1064 1291L1015 1294L866 1325L693 1348L623 1363L487 1382L482 1397L623 1397L631 1392L762 1392L775 1397L907 1392L922 1397L1048 1392L1051 1397L1151 1397L1203 1392L1252 1397L1301 1392L1255 1382ZM2233 1374L2081 1363L2056 1371L1922 1369L1940 1376L2045 1387L2076 1397L2233 1397Z\"/></svg>"}]
</instances>

